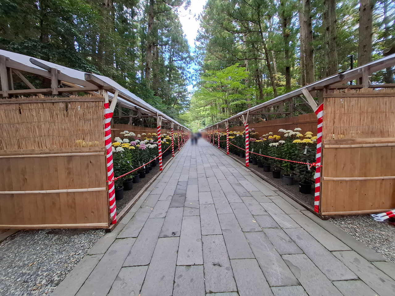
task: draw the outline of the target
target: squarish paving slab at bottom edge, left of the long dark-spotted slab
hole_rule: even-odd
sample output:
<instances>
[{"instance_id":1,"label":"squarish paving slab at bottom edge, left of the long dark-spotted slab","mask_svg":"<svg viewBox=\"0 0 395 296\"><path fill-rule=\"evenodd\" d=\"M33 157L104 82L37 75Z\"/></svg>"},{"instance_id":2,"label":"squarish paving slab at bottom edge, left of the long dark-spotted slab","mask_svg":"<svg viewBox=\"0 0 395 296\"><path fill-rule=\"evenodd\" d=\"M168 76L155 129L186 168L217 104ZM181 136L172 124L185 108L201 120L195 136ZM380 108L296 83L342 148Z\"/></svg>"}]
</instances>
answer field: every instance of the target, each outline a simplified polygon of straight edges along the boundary
<instances>
[{"instance_id":1,"label":"squarish paving slab at bottom edge, left of the long dark-spotted slab","mask_svg":"<svg viewBox=\"0 0 395 296\"><path fill-rule=\"evenodd\" d=\"M205 296L203 266L177 266L173 296Z\"/></svg>"}]
</instances>

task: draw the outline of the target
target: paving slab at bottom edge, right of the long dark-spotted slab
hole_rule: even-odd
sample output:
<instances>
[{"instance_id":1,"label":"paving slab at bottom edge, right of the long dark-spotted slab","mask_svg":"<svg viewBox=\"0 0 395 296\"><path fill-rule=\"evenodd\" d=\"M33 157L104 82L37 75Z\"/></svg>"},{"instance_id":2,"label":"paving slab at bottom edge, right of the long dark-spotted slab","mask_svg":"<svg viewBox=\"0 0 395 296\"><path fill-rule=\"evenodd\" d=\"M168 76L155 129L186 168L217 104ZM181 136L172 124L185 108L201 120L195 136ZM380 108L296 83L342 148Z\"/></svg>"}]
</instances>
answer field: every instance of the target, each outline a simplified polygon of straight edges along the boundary
<instances>
[{"instance_id":1,"label":"paving slab at bottom edge, right of the long dark-spotted slab","mask_svg":"<svg viewBox=\"0 0 395 296\"><path fill-rule=\"evenodd\" d=\"M233 259L230 262L240 296L273 296L255 259Z\"/></svg>"}]
</instances>

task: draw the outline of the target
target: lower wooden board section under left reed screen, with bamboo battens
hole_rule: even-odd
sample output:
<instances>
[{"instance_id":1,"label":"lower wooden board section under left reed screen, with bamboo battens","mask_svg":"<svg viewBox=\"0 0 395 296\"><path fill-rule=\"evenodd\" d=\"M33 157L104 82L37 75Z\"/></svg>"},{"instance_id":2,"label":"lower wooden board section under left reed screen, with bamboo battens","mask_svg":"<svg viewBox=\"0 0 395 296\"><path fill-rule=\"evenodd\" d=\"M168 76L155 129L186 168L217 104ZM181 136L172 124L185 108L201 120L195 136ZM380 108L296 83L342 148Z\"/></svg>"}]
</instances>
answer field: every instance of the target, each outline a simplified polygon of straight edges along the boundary
<instances>
[{"instance_id":1,"label":"lower wooden board section under left reed screen, with bamboo battens","mask_svg":"<svg viewBox=\"0 0 395 296\"><path fill-rule=\"evenodd\" d=\"M109 226L104 150L73 152L0 156L0 228Z\"/></svg>"}]
</instances>

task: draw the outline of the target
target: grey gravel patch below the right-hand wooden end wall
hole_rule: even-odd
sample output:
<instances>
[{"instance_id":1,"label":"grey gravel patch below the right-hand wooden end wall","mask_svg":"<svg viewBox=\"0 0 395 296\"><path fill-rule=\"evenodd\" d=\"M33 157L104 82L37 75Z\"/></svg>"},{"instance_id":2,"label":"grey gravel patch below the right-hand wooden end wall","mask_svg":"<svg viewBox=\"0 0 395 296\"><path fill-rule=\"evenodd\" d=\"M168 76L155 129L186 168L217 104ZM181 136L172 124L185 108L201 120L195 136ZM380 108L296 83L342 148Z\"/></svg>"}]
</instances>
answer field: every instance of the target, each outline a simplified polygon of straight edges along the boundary
<instances>
[{"instance_id":1,"label":"grey gravel patch below the right-hand wooden end wall","mask_svg":"<svg viewBox=\"0 0 395 296\"><path fill-rule=\"evenodd\" d=\"M376 222L370 215L350 215L329 221L395 263L395 226Z\"/></svg>"}]
</instances>

